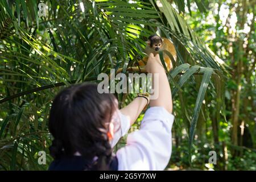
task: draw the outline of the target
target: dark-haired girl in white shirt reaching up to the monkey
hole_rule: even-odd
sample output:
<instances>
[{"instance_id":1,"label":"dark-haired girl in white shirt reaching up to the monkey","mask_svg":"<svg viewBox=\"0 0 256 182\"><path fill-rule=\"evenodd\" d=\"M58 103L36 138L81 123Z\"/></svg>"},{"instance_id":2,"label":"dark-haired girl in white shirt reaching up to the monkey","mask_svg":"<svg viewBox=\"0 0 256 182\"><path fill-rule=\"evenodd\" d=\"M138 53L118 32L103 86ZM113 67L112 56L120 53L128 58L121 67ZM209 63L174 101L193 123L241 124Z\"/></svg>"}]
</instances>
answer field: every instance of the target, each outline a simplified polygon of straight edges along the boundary
<instances>
[{"instance_id":1,"label":"dark-haired girl in white shirt reaching up to the monkey","mask_svg":"<svg viewBox=\"0 0 256 182\"><path fill-rule=\"evenodd\" d=\"M163 170L171 157L171 89L159 55L151 54L148 73L158 74L154 92L141 129L127 136L127 145L116 155L112 148L127 133L149 98L137 97L123 109L113 94L100 94L96 84L64 89L53 101L49 148L54 160L49 170ZM157 88L156 88L157 87Z\"/></svg>"}]
</instances>

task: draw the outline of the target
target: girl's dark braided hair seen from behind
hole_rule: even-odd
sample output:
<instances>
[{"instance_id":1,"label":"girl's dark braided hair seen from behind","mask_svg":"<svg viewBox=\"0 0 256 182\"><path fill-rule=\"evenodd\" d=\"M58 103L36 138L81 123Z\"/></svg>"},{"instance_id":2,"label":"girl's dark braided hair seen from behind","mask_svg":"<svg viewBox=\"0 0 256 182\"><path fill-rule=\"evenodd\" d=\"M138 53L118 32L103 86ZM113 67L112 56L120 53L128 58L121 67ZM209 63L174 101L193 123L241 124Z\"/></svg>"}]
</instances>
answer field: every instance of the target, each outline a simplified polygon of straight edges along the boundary
<instances>
[{"instance_id":1,"label":"girl's dark braided hair seen from behind","mask_svg":"<svg viewBox=\"0 0 256 182\"><path fill-rule=\"evenodd\" d=\"M79 152L97 161L90 169L106 170L112 159L107 133L117 102L113 94L98 93L96 84L73 85L53 100L49 131L54 137L49 148L54 159Z\"/></svg>"}]
</instances>

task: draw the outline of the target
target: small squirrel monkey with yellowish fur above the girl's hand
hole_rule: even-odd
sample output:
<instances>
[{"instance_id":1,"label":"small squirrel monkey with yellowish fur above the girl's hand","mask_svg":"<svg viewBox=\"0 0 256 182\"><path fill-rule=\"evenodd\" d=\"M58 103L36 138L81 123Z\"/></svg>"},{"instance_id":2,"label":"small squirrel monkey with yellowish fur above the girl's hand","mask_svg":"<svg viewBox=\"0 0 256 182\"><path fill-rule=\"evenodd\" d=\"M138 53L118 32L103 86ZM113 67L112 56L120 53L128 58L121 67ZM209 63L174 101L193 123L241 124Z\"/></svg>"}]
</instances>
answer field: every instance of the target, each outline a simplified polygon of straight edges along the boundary
<instances>
[{"instance_id":1,"label":"small squirrel monkey with yellowish fur above the girl's hand","mask_svg":"<svg viewBox=\"0 0 256 182\"><path fill-rule=\"evenodd\" d=\"M147 55L150 55L150 53L154 53L154 55L158 54L159 51L167 50L171 53L172 57L174 57L174 60L176 61L177 55L175 51L174 44L171 43L171 41L167 38L160 38L158 35L151 35L148 37L147 40L147 46L145 48L145 53ZM164 62L166 63L166 67L168 71L173 68L172 61L170 57L163 53ZM139 61L140 66L144 66L147 64L148 56L143 57L142 60Z\"/></svg>"}]
</instances>

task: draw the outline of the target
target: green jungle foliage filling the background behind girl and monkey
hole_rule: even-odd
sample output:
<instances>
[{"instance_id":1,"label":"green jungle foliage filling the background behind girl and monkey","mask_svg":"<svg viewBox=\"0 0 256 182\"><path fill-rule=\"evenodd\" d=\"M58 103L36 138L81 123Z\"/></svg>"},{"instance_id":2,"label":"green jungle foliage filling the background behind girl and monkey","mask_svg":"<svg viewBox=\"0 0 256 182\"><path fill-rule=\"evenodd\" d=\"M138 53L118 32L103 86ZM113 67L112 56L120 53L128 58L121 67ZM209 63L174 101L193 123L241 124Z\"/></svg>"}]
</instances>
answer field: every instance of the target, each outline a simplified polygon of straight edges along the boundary
<instances>
[{"instance_id":1,"label":"green jungle foliage filling the background behind girl and monkey","mask_svg":"<svg viewBox=\"0 0 256 182\"><path fill-rule=\"evenodd\" d=\"M46 170L53 97L174 42L166 170L255 170L255 0L0 1L0 170ZM117 95L120 107L134 94ZM129 132L139 129L143 114ZM171 139L170 139L171 140ZM125 137L114 150L125 145ZM38 163L46 152L46 164ZM216 152L216 164L210 163ZM210 153L211 154L211 153Z\"/></svg>"}]
</instances>

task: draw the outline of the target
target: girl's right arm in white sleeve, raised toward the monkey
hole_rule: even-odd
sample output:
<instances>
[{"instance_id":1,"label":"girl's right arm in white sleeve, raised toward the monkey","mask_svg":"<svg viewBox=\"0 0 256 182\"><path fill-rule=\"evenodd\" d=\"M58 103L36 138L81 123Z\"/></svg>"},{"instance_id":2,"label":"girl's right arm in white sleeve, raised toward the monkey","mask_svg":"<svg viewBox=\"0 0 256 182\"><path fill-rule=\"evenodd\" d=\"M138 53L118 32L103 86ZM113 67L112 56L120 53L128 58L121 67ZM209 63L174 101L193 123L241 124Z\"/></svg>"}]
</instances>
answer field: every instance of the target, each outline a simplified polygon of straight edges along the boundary
<instances>
[{"instance_id":1,"label":"girl's right arm in white sleeve, raised toward the monkey","mask_svg":"<svg viewBox=\"0 0 256 182\"><path fill-rule=\"evenodd\" d=\"M150 101L141 129L127 136L127 145L117 151L118 170L163 170L172 151L172 97L159 55L150 55L146 69L153 74L156 98ZM154 79L154 74L158 78Z\"/></svg>"}]
</instances>

